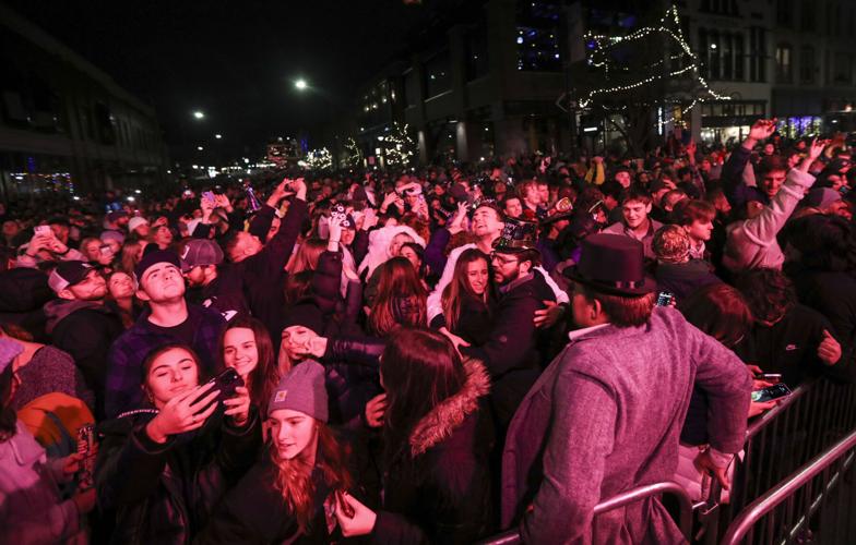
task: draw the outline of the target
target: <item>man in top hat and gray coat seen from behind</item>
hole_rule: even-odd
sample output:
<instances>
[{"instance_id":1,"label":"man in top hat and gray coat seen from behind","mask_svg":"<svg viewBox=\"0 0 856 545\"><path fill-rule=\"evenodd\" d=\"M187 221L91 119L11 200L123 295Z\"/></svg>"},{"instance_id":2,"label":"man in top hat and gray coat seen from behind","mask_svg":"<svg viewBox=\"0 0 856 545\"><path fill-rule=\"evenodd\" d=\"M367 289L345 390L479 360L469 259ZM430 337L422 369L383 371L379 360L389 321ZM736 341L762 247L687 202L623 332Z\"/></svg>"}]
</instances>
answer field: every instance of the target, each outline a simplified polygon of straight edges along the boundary
<instances>
[{"instance_id":1,"label":"man in top hat and gray coat seen from behind","mask_svg":"<svg viewBox=\"0 0 856 545\"><path fill-rule=\"evenodd\" d=\"M594 519L604 498L671 479L693 387L711 407L697 463L725 482L746 433L751 379L740 360L677 311L654 308L642 244L583 241L571 308L582 329L521 402L502 459L502 524L525 543L681 543L656 498ZM727 483L725 483L727 485Z\"/></svg>"}]
</instances>

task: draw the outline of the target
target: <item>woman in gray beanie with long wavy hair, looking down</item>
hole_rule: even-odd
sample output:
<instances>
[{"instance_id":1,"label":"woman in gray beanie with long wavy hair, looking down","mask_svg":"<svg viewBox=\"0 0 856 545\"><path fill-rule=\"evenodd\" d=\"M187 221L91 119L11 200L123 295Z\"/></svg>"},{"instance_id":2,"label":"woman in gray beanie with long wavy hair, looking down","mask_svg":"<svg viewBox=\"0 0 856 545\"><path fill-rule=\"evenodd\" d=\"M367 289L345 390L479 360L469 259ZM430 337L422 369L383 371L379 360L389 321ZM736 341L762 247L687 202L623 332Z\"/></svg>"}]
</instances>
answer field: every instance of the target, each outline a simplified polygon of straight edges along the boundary
<instances>
[{"instance_id":1,"label":"woman in gray beanie with long wavy hair, looking down","mask_svg":"<svg viewBox=\"0 0 856 545\"><path fill-rule=\"evenodd\" d=\"M198 543L331 543L338 491L353 486L346 456L328 427L324 368L295 366L268 403L271 444L223 499Z\"/></svg>"}]
</instances>

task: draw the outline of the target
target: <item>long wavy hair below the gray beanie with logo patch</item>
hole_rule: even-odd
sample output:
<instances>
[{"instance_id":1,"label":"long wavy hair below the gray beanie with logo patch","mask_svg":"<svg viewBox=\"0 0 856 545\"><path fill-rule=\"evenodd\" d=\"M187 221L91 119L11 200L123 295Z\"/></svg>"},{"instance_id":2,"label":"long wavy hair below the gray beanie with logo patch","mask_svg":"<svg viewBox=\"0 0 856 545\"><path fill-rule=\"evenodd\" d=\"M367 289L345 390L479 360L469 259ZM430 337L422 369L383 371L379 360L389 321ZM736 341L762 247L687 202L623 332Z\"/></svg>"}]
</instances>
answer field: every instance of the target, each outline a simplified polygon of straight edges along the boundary
<instances>
[{"instance_id":1,"label":"long wavy hair below the gray beanie with logo patch","mask_svg":"<svg viewBox=\"0 0 856 545\"><path fill-rule=\"evenodd\" d=\"M320 467L328 487L348 491L354 486L354 480L345 463L349 452L340 445L326 424L322 422L317 424L316 467ZM300 456L292 460L283 460L274 443L271 443L270 452L273 465L276 468L274 487L283 495L283 500L297 519L300 532L306 533L316 510L316 485L312 482L314 467Z\"/></svg>"}]
</instances>

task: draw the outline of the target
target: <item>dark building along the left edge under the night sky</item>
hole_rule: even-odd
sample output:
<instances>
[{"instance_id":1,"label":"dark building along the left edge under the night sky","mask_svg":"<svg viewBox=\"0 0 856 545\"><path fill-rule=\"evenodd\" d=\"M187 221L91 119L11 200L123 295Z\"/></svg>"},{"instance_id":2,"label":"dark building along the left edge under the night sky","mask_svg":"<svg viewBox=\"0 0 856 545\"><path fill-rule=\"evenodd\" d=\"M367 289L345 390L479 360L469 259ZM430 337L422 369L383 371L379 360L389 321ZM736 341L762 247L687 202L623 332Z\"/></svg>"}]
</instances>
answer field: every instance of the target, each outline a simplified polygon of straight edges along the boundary
<instances>
[{"instance_id":1,"label":"dark building along the left edge under the night sky","mask_svg":"<svg viewBox=\"0 0 856 545\"><path fill-rule=\"evenodd\" d=\"M0 59L0 198L163 179L167 155L153 108L2 5Z\"/></svg>"}]
</instances>

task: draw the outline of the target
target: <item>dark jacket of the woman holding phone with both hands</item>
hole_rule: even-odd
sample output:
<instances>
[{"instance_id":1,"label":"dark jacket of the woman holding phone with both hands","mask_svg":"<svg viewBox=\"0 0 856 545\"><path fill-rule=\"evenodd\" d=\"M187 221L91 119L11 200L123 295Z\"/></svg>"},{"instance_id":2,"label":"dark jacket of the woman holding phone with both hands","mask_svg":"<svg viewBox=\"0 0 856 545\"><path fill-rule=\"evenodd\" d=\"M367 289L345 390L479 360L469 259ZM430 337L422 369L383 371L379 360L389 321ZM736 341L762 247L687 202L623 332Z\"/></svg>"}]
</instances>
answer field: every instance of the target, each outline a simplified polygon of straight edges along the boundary
<instances>
[{"instance_id":1,"label":"dark jacket of the woman holding phone with both hands","mask_svg":"<svg viewBox=\"0 0 856 545\"><path fill-rule=\"evenodd\" d=\"M261 446L257 415L243 428L221 412L195 433L154 443L145 433L153 414L99 426L98 505L116 509L112 543L186 544L207 523L223 494L252 465Z\"/></svg>"}]
</instances>

